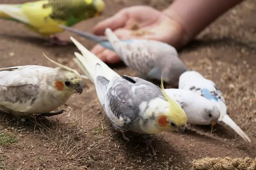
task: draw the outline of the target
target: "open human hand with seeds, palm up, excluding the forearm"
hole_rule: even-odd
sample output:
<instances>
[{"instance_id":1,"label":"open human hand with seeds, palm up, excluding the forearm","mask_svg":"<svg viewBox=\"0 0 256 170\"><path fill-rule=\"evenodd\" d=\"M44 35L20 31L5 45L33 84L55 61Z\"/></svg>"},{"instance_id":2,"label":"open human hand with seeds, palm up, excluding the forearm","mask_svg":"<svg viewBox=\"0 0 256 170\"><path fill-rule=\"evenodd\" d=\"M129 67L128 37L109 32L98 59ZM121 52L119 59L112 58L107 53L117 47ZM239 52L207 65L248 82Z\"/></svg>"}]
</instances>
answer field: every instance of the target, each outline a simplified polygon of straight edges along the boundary
<instances>
[{"instance_id":1,"label":"open human hand with seeds, palm up, excluding the forearm","mask_svg":"<svg viewBox=\"0 0 256 170\"><path fill-rule=\"evenodd\" d=\"M137 24L138 31L132 30L134 23ZM106 28L110 28L120 39L152 39L174 47L180 45L183 33L178 22L149 6L131 6L120 10L114 16L97 24L94 34L104 35ZM139 31L144 32L144 35L135 34ZM121 61L115 52L98 44L91 52L106 63L114 64Z\"/></svg>"}]
</instances>

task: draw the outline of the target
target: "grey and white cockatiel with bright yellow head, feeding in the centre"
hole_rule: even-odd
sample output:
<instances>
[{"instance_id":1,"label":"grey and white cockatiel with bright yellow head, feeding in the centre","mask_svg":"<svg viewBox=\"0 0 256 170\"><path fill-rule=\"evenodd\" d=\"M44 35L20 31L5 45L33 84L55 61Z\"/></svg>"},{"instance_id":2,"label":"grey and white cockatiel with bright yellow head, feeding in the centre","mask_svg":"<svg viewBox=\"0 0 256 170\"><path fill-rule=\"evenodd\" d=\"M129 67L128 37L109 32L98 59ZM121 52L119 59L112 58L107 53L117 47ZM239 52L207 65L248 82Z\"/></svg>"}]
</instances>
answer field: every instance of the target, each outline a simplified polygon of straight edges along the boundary
<instances>
[{"instance_id":1,"label":"grey and white cockatiel with bright yellow head, feeding in the centre","mask_svg":"<svg viewBox=\"0 0 256 170\"><path fill-rule=\"evenodd\" d=\"M98 99L114 128L143 134L147 149L151 148L151 134L185 130L187 116L181 106L151 82L128 75L119 75L73 37L71 40L82 52L75 52L75 63L95 84Z\"/></svg>"}]
</instances>

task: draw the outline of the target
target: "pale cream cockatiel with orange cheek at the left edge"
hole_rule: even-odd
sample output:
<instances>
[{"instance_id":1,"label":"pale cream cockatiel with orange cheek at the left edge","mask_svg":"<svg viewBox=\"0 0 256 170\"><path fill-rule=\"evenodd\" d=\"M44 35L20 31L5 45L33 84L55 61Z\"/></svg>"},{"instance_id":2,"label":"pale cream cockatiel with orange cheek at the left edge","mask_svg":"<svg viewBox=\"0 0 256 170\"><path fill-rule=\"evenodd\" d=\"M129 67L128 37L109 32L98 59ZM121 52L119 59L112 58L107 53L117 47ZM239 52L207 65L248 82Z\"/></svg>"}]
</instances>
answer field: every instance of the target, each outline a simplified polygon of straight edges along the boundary
<instances>
[{"instance_id":1,"label":"pale cream cockatiel with orange cheek at the left edge","mask_svg":"<svg viewBox=\"0 0 256 170\"><path fill-rule=\"evenodd\" d=\"M83 92L81 75L45 56L57 68L37 65L0 69L0 108L18 119L32 114L53 116L49 113L75 93Z\"/></svg>"}]
</instances>

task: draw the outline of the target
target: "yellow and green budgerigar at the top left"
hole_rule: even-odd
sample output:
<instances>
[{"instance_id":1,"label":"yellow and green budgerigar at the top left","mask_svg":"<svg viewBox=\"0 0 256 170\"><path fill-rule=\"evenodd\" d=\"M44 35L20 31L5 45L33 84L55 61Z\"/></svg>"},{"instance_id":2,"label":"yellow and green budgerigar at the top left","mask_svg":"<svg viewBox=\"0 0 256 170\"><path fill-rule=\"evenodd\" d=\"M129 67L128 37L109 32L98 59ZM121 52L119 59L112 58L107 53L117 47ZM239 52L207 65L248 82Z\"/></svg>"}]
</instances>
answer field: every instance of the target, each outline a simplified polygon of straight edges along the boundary
<instances>
[{"instance_id":1,"label":"yellow and green budgerigar at the top left","mask_svg":"<svg viewBox=\"0 0 256 170\"><path fill-rule=\"evenodd\" d=\"M46 45L64 45L56 33L63 29L58 24L74 24L101 15L103 0L41 0L23 4L0 4L0 18L25 24L29 29L49 37Z\"/></svg>"}]
</instances>

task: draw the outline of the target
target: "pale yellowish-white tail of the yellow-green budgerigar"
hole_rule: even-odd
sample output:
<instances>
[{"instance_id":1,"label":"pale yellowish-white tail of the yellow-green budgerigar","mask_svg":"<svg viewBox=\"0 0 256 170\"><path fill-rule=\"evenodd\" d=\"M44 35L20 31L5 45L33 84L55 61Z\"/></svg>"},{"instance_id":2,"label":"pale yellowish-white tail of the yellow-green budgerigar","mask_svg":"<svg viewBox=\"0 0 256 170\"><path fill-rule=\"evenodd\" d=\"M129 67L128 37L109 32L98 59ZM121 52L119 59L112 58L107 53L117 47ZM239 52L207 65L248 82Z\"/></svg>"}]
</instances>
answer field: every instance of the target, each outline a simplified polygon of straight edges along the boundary
<instances>
[{"instance_id":1,"label":"pale yellowish-white tail of the yellow-green budgerigar","mask_svg":"<svg viewBox=\"0 0 256 170\"><path fill-rule=\"evenodd\" d=\"M22 4L0 4L0 18L29 23L23 12Z\"/></svg>"}]
</instances>

